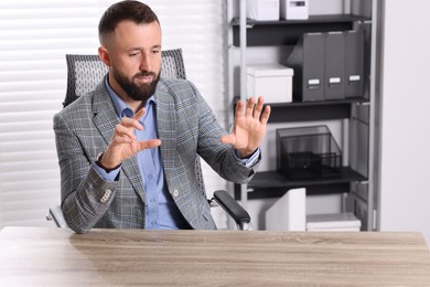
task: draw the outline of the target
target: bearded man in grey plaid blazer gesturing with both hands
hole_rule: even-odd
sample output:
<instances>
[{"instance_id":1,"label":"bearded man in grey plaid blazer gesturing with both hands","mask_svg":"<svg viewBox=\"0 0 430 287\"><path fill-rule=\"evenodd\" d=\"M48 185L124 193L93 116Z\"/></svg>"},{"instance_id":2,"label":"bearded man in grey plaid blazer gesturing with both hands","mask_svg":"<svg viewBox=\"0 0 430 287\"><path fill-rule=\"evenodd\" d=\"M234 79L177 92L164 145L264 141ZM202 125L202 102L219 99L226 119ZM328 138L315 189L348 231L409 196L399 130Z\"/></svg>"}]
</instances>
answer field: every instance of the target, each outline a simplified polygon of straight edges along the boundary
<instances>
[{"instance_id":1,"label":"bearded man in grey plaid blazer gesturing with both hands","mask_svg":"<svg viewBox=\"0 0 430 287\"><path fill-rule=\"evenodd\" d=\"M224 179L248 182L270 107L238 103L227 135L193 84L160 78L161 28L148 6L112 4L98 29L109 72L54 117L68 226L216 228L197 156Z\"/></svg>"}]
</instances>

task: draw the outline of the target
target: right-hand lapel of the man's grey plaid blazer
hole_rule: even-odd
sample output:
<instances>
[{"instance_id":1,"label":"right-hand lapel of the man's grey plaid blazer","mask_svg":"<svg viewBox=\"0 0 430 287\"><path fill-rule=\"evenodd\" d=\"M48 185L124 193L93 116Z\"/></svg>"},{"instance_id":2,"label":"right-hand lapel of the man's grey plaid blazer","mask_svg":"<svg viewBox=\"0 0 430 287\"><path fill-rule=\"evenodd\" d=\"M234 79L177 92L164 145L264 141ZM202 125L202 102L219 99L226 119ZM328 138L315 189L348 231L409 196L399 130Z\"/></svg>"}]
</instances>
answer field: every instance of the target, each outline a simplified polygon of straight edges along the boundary
<instances>
[{"instance_id":1,"label":"right-hand lapel of the man's grey plaid blazer","mask_svg":"<svg viewBox=\"0 0 430 287\"><path fill-rule=\"evenodd\" d=\"M155 92L157 102L157 129L161 140L161 159L163 161L164 176L173 177L174 157L176 151L176 107L174 98L169 94L168 87L160 81Z\"/></svg>"}]
</instances>

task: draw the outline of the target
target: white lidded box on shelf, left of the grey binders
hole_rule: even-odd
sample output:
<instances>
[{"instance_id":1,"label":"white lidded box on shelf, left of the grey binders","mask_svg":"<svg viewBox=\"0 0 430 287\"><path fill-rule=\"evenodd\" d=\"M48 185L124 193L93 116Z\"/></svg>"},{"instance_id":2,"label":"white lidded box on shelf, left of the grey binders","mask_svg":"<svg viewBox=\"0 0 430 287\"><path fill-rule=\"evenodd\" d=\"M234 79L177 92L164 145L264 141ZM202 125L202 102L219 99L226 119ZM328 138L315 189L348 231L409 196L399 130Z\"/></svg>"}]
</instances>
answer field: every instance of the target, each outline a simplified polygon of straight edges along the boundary
<instances>
[{"instance_id":1,"label":"white lidded box on shelf, left of the grey binders","mask_svg":"<svg viewBox=\"0 0 430 287\"><path fill-rule=\"evenodd\" d=\"M259 64L247 67L248 97L264 96L265 103L292 102L291 67L280 64Z\"/></svg>"}]
</instances>

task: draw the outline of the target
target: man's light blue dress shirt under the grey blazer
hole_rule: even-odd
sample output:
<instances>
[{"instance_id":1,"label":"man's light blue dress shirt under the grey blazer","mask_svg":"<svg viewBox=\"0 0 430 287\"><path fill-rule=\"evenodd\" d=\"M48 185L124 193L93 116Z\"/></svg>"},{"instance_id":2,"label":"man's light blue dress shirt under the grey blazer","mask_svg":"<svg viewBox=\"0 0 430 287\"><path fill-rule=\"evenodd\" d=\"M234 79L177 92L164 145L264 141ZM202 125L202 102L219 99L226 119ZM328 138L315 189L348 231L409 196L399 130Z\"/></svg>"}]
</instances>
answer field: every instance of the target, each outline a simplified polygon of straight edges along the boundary
<instances>
[{"instance_id":1,"label":"man's light blue dress shirt under the grey blazer","mask_svg":"<svg viewBox=\"0 0 430 287\"><path fill-rule=\"evenodd\" d=\"M115 105L118 118L132 117L133 111L121 100L108 84L108 77L105 81L106 89ZM150 97L144 106L146 113L139 120L143 130L135 130L139 141L158 138L157 135L157 108L154 97ZM259 157L258 149L249 159L240 160L247 167L254 166ZM140 172L143 179L143 189L146 192L146 228L148 230L178 230L190 228L172 195L169 193L164 180L160 148L146 149L137 153ZM94 164L97 172L108 181L114 181L119 174L120 168L106 172L104 169Z\"/></svg>"}]
</instances>

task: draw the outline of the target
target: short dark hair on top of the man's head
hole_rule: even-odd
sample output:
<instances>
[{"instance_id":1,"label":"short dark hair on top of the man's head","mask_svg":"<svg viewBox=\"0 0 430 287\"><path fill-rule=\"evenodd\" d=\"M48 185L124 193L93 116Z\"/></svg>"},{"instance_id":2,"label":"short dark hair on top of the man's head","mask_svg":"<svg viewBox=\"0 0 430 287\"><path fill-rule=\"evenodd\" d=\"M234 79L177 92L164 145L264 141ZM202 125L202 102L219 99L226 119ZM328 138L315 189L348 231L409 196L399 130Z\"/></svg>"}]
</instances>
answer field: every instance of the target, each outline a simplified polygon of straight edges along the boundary
<instances>
[{"instance_id":1,"label":"short dark hair on top of the man's head","mask_svg":"<svg viewBox=\"0 0 430 287\"><path fill-rule=\"evenodd\" d=\"M98 24L98 35L115 31L119 22L125 20L133 21L137 24L149 24L154 21L159 22L157 14L152 9L139 1L126 0L110 6L103 14ZM159 22L160 23L160 22Z\"/></svg>"}]
</instances>

